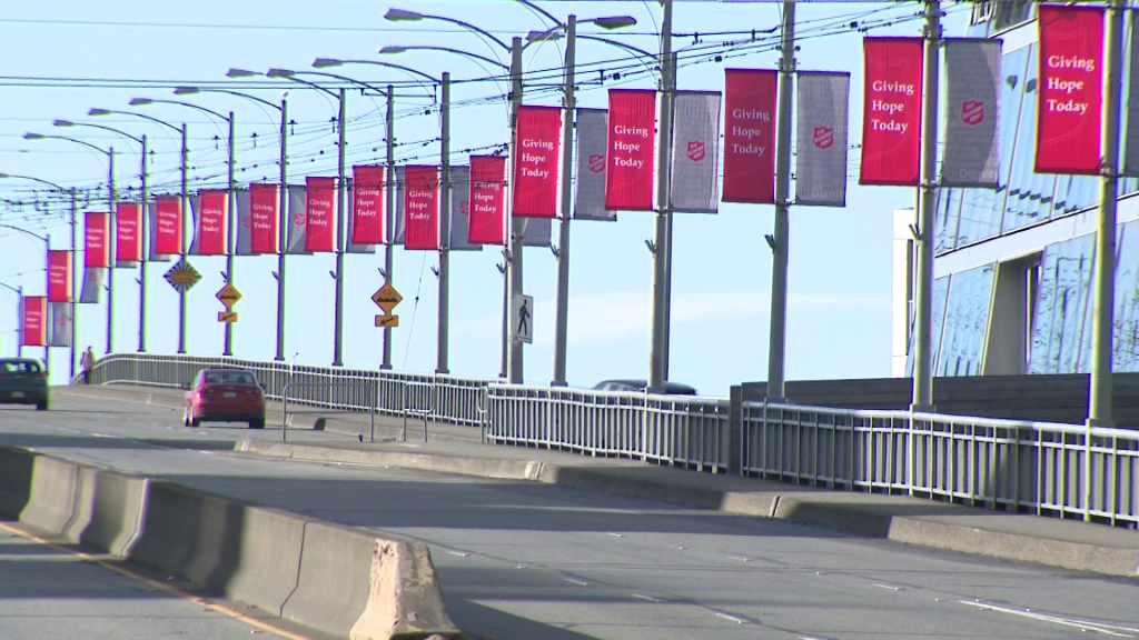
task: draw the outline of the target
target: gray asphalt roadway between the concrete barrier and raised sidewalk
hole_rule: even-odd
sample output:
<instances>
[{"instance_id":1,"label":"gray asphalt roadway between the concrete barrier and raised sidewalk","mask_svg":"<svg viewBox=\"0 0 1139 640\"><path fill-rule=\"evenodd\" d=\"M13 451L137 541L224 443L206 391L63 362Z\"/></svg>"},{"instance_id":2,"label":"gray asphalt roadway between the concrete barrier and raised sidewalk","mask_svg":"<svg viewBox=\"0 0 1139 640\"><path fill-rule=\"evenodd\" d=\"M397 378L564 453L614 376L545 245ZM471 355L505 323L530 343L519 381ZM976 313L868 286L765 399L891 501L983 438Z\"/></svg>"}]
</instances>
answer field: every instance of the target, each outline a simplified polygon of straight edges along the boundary
<instances>
[{"instance_id":1,"label":"gray asphalt roadway between the concrete barrier and raised sidewalk","mask_svg":"<svg viewBox=\"0 0 1139 640\"><path fill-rule=\"evenodd\" d=\"M280 430L54 402L0 408L0 442L424 540L454 622L497 640L1139 638L1137 582L538 483L262 460L227 450Z\"/></svg>"}]
</instances>

